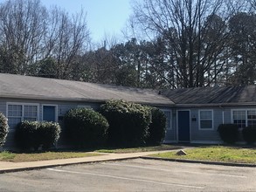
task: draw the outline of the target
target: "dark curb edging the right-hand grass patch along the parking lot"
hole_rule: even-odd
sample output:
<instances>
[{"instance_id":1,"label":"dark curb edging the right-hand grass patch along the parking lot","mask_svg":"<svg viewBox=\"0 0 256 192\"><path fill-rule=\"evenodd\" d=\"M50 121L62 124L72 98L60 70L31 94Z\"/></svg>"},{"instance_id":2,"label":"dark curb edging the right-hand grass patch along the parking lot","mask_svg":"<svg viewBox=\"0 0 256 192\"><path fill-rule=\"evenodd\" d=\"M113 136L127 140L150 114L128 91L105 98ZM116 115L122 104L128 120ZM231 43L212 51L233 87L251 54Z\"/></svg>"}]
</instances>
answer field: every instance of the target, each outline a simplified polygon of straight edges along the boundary
<instances>
[{"instance_id":1,"label":"dark curb edging the right-hand grass patch along the parking lot","mask_svg":"<svg viewBox=\"0 0 256 192\"><path fill-rule=\"evenodd\" d=\"M140 158L145 159L145 160L176 161L176 162L188 162L188 163L201 163L201 164L208 164L208 165L223 165L223 166L232 166L232 167L256 168L256 164L251 164L251 163L168 159L168 158L149 157L149 156L141 156Z\"/></svg>"}]
</instances>

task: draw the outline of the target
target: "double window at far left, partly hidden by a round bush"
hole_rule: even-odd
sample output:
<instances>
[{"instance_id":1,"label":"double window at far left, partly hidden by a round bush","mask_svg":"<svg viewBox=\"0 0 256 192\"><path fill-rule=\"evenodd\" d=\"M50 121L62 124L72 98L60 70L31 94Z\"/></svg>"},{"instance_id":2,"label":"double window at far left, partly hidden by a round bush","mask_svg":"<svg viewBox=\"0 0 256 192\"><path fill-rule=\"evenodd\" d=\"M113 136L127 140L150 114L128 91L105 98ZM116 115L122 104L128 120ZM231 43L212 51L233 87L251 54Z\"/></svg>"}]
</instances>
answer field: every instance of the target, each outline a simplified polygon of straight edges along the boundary
<instances>
[{"instance_id":1,"label":"double window at far left, partly hidden by a round bush","mask_svg":"<svg viewBox=\"0 0 256 192\"><path fill-rule=\"evenodd\" d=\"M7 104L7 118L10 128L23 120L38 120L38 105Z\"/></svg>"}]
</instances>

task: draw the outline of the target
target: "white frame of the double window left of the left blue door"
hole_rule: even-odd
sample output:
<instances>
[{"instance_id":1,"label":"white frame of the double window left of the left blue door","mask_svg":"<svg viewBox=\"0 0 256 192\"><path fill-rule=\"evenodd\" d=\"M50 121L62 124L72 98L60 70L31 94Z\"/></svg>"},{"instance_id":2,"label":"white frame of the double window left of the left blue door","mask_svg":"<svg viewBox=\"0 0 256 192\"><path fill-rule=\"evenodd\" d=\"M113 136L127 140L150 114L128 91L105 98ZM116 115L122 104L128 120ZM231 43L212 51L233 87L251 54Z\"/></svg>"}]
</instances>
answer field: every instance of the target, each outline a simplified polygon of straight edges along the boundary
<instances>
[{"instance_id":1,"label":"white frame of the double window left of the left blue door","mask_svg":"<svg viewBox=\"0 0 256 192\"><path fill-rule=\"evenodd\" d=\"M9 117L9 106L21 106L21 116L10 116ZM36 120L39 120L39 104L38 103L22 103L22 102L7 102L6 103L6 117L9 120L10 118L20 118L21 122L24 121L24 118L29 118L29 117L24 117L24 106L37 106L37 116ZM35 117L31 117L35 118ZM14 130L13 127L10 127L10 130Z\"/></svg>"}]
</instances>

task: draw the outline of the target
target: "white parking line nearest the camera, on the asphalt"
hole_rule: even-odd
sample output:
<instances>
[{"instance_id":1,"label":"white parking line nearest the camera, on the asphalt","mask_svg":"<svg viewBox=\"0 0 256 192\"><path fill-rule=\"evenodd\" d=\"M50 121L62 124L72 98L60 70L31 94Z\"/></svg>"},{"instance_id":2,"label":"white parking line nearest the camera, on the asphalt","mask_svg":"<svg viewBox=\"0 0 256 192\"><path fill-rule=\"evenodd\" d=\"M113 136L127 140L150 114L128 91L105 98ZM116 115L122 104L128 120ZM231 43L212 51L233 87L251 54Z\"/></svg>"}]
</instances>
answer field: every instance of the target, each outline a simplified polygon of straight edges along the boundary
<instances>
[{"instance_id":1,"label":"white parking line nearest the camera, on the asphalt","mask_svg":"<svg viewBox=\"0 0 256 192\"><path fill-rule=\"evenodd\" d=\"M86 172L77 172L77 171L67 171L67 170L61 170L61 169L57 169L57 168L47 168L47 169L50 171L61 172L61 173L70 173L70 174L79 174L79 175L95 175L95 176L102 176L102 177L135 181L135 182L149 182L149 183L154 183L154 184L176 186L176 187L182 187L182 188L204 189L203 187L198 187L198 186L193 186L193 185L183 185L183 184L167 183L167 182L154 182L154 181L149 181L149 180L133 179L133 178L128 178L128 177L114 176L114 175L102 175L102 174L93 174L93 173L88 173L88 172L86 173Z\"/></svg>"}]
</instances>

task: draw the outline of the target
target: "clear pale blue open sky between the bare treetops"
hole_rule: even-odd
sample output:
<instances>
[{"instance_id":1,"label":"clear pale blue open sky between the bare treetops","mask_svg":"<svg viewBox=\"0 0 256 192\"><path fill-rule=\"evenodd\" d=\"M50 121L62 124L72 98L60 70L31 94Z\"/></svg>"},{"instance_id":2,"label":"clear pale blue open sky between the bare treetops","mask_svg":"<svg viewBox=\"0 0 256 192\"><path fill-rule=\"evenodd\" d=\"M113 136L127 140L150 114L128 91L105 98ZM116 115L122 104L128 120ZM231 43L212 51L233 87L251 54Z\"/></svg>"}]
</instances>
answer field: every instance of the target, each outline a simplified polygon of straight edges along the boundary
<instances>
[{"instance_id":1,"label":"clear pale blue open sky between the bare treetops","mask_svg":"<svg viewBox=\"0 0 256 192\"><path fill-rule=\"evenodd\" d=\"M83 8L93 42L100 42L105 34L121 37L132 13L130 0L41 0L41 3L46 7L57 5L71 14Z\"/></svg>"}]
</instances>

